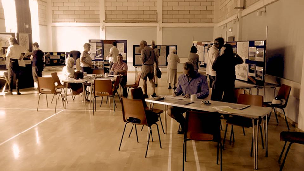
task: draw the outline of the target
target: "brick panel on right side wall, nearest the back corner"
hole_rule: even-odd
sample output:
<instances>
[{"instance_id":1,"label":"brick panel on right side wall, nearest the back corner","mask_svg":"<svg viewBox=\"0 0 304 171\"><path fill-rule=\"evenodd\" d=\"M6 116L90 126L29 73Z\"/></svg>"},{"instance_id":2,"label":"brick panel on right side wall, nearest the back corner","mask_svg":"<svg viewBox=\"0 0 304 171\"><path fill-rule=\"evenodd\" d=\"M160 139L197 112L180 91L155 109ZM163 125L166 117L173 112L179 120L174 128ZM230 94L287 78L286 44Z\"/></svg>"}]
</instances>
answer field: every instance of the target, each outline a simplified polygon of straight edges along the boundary
<instances>
[{"instance_id":1,"label":"brick panel on right side wall, nearest the back corner","mask_svg":"<svg viewBox=\"0 0 304 171\"><path fill-rule=\"evenodd\" d=\"M238 1L239 0L220 0L219 21L223 21L237 13L234 7L237 6Z\"/></svg>"}]
</instances>

